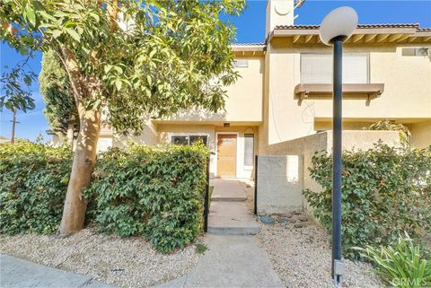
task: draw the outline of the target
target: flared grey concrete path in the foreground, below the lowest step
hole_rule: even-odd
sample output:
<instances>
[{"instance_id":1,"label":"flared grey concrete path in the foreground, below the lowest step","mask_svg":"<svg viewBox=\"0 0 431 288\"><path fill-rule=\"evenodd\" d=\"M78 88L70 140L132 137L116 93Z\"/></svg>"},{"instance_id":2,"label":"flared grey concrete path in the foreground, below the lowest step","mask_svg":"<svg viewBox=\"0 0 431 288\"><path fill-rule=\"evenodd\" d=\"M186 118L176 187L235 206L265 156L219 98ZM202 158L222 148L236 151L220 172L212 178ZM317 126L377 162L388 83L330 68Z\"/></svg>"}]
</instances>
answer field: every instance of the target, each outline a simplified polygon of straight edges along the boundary
<instances>
[{"instance_id":1,"label":"flared grey concrete path in the foreground, below the lowest step","mask_svg":"<svg viewBox=\"0 0 431 288\"><path fill-rule=\"evenodd\" d=\"M158 288L285 287L256 236L212 235L198 266Z\"/></svg>"}]
</instances>

